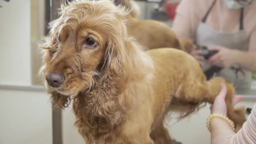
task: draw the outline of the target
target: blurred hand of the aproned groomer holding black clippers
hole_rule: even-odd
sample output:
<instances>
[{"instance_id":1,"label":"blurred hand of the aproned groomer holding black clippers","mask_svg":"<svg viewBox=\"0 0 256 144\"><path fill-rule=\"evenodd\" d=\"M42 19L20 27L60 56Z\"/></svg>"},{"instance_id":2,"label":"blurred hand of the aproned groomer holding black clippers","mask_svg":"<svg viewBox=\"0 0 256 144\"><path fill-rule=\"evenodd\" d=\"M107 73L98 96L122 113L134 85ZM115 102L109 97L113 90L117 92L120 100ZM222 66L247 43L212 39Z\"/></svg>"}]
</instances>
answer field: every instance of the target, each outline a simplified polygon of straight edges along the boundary
<instances>
[{"instance_id":1,"label":"blurred hand of the aproned groomer holding black clippers","mask_svg":"<svg viewBox=\"0 0 256 144\"><path fill-rule=\"evenodd\" d=\"M231 67L235 64L237 56L234 50L221 46L210 48L210 50L218 51L208 59L210 64L223 68Z\"/></svg>"}]
</instances>

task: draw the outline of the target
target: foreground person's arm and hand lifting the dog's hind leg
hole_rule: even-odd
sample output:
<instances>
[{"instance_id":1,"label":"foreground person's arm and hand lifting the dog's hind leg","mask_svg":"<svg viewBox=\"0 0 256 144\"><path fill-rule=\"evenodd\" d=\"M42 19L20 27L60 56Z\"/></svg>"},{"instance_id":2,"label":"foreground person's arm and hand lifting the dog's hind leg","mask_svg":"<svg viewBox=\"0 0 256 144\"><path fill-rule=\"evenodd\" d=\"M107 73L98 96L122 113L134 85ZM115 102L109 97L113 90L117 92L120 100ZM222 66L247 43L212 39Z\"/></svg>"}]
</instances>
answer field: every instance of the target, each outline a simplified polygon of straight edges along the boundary
<instances>
[{"instance_id":1,"label":"foreground person's arm and hand lifting the dog's hind leg","mask_svg":"<svg viewBox=\"0 0 256 144\"><path fill-rule=\"evenodd\" d=\"M216 96L211 107L211 113L219 113L227 116L227 106L225 97L227 88L221 85L222 90ZM242 100L242 97L236 97L234 104ZM213 118L210 122L211 144L256 144L256 104L253 106L249 119L243 124L243 127L235 133L229 124L221 118Z\"/></svg>"}]
</instances>

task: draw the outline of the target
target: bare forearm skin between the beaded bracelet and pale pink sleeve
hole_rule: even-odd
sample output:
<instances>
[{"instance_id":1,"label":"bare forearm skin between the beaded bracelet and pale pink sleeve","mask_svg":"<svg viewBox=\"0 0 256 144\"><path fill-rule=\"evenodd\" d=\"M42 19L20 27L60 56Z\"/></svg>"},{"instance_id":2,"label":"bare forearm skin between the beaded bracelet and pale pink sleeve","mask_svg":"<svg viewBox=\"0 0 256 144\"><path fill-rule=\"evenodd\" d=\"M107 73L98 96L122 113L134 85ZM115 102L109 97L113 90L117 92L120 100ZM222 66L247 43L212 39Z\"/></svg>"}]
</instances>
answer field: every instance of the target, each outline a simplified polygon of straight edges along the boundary
<instances>
[{"instance_id":1,"label":"bare forearm skin between the beaded bracelet and pale pink sleeve","mask_svg":"<svg viewBox=\"0 0 256 144\"><path fill-rule=\"evenodd\" d=\"M229 124L221 118L213 118L210 122L211 127L211 144L214 144L214 139L217 136L230 136L235 135L235 132Z\"/></svg>"}]
</instances>

